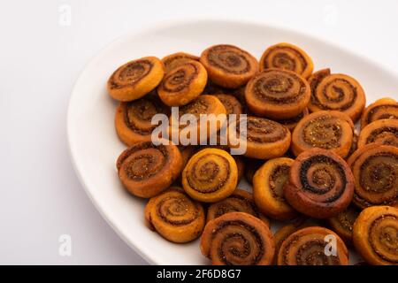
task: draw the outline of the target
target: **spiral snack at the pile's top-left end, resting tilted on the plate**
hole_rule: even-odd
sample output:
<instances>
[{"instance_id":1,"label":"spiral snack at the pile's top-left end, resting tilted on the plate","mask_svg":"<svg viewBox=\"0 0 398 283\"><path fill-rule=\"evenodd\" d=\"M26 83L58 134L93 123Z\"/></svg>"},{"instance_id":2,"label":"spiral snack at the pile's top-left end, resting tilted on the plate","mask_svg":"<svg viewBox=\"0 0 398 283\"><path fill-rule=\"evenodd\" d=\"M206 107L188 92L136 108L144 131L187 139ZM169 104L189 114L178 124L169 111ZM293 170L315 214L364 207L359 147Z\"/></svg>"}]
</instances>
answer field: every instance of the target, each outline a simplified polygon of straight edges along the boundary
<instances>
[{"instance_id":1,"label":"spiral snack at the pile's top-left end, resting tilted on the plate","mask_svg":"<svg viewBox=\"0 0 398 283\"><path fill-rule=\"evenodd\" d=\"M108 92L119 101L132 101L155 89L164 75L162 61L157 57L142 57L121 65L111 74Z\"/></svg>"}]
</instances>

